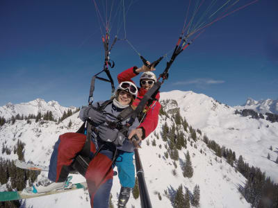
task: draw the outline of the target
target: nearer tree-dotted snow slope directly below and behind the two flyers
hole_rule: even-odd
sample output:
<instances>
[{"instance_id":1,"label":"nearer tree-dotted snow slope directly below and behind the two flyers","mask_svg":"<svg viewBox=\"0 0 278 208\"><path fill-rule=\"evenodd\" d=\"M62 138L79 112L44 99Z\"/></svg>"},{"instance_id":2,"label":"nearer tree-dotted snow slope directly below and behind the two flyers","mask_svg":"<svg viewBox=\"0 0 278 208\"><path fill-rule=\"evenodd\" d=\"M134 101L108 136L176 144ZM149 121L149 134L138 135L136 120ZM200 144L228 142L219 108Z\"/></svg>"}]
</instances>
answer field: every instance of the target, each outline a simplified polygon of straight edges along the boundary
<instances>
[{"instance_id":1,"label":"nearer tree-dotted snow slope directly below and behind the two flyers","mask_svg":"<svg viewBox=\"0 0 278 208\"><path fill-rule=\"evenodd\" d=\"M172 96L175 94L175 98L179 98L187 94L193 94L193 92L170 92L162 94L165 96ZM203 101L206 97L200 96L195 98L195 101ZM181 105L181 104L179 104ZM195 107L196 105L190 105ZM175 107L175 106L172 106ZM171 106L168 106L168 110ZM181 107L182 108L182 107ZM190 108L187 109L191 112ZM183 112L183 110L181 110ZM183 112L184 114L184 112ZM196 114L199 115L199 112ZM202 116L209 116L208 112L202 112ZM67 128L69 121L72 121L72 127ZM188 119L190 121L190 119ZM196 120L197 121L197 120ZM191 161L194 168L194 175L188 179L183 177L181 166L177 162L177 175L174 176L172 171L175 169L172 159L166 159L164 153L165 142L161 139L160 132L162 125L167 122L169 126L173 121L165 116L159 117L158 127L155 132L158 138L154 136L154 133L150 135L149 146L147 141L142 142L142 148L140 151L140 157L142 165L145 171L145 179L147 187L149 189L149 195L152 200L153 207L172 207L170 198L174 196L175 190L180 184L183 184L183 191L186 187L193 193L193 188L196 184L199 185L201 191L200 207L250 207L246 200L238 192L239 186L244 186L245 177L240 173L236 173L234 168L229 166L224 159L215 161L215 154L206 147L202 140L197 141L197 148L190 146L188 142L187 149L183 148L179 150L179 157L181 160L185 159L184 154L188 150L190 153ZM17 139L22 140L25 146L25 159L29 159L37 164L48 165L51 156L52 148L55 144L58 135L64 132L75 132L81 125L81 121L78 118L78 114L74 114L65 119L62 123L56 125L52 121L47 121L44 124L35 123L32 120L31 124L27 124L26 121L16 121L14 125L6 123L0 128L0 146L4 143L10 148L15 146ZM189 122L190 123L190 122ZM204 121L197 122L198 125L204 125ZM188 133L182 128L186 138ZM198 135L200 137L200 135ZM152 146L152 140L156 140L156 146ZM202 149L203 153L200 153ZM1 155L10 159L16 159L17 155ZM221 161L221 162L220 162ZM41 173L42 177L45 173ZM74 175L73 182L83 182L84 179L81 175ZM2 190L4 186L2 187ZM167 194L165 194L167 190ZM120 183L117 176L114 177L113 182L113 204L117 204L117 196L120 191ZM161 193L162 200L159 200L157 192ZM41 198L33 198L24 201L25 207L90 207L90 200L88 197L88 191L78 190L70 193L60 193L54 196L44 196ZM133 196L129 200L127 207L140 207L140 199L135 200Z\"/></svg>"}]
</instances>

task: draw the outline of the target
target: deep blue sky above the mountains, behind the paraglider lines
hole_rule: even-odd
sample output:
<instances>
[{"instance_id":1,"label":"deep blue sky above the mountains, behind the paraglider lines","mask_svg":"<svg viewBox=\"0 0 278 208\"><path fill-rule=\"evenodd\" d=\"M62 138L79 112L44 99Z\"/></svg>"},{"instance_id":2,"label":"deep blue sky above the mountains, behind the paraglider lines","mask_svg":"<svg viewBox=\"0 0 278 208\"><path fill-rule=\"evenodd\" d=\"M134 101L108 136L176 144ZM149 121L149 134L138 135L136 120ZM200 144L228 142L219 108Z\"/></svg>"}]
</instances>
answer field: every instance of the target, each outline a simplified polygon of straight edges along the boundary
<instances>
[{"instance_id":1,"label":"deep blue sky above the mountains, behind the paraglider lines","mask_svg":"<svg viewBox=\"0 0 278 208\"><path fill-rule=\"evenodd\" d=\"M251 1L242 1L241 5ZM124 1L125 8L130 2ZM118 35L126 36L136 51L152 62L173 49L189 1L132 2L125 19L126 31L122 26ZM190 11L194 10L193 3ZM101 4L99 10L105 11ZM114 19L111 41L118 28ZM277 99L277 19L278 1L261 0L215 22L177 57L161 92L192 90L228 105L241 105L248 97ZM0 105L35 98L55 100L64 106L87 105L90 79L104 63L94 1L3 0L0 28ZM115 62L111 70L115 83L117 73L142 65L125 41L115 44L111 60ZM165 64L166 58L156 67L157 75ZM97 82L95 99L110 96L110 85Z\"/></svg>"}]
</instances>

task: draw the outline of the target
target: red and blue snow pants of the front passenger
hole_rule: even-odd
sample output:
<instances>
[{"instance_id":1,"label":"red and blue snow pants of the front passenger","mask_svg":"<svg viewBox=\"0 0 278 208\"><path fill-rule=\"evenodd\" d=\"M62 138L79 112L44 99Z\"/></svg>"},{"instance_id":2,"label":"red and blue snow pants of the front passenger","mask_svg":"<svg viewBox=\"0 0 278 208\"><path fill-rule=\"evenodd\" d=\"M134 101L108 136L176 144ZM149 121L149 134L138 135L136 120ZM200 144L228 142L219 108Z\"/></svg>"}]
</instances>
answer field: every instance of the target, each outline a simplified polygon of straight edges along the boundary
<instances>
[{"instance_id":1,"label":"red and blue snow pants of the front passenger","mask_svg":"<svg viewBox=\"0 0 278 208\"><path fill-rule=\"evenodd\" d=\"M63 182L67 179L74 157L82 150L85 140L86 136L79 133L60 135L50 159L48 175L50 180ZM92 141L90 151L92 154L96 152ZM112 157L111 150L100 150L91 160L85 173L92 208L108 208L113 184Z\"/></svg>"}]
</instances>

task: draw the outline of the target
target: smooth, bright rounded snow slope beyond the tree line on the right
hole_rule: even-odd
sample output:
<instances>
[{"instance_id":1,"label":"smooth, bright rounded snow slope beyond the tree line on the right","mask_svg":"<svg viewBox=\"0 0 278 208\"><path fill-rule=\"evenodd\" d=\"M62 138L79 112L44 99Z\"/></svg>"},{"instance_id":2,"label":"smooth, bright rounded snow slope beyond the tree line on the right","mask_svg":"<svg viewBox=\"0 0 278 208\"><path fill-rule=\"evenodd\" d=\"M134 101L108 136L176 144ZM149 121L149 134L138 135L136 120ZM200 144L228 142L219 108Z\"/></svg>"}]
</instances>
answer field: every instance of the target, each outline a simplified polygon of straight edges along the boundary
<instances>
[{"instance_id":1,"label":"smooth, bright rounded snow slope beyond the tree line on the right","mask_svg":"<svg viewBox=\"0 0 278 208\"><path fill-rule=\"evenodd\" d=\"M245 162L261 168L274 182L278 182L278 165L275 163L278 123L234 114L234 107L220 104L204 94L177 90L161 93L161 101L170 98L177 101L181 115L193 128L199 128L220 146L231 148L237 158L243 155ZM267 159L268 153L270 160Z\"/></svg>"}]
</instances>

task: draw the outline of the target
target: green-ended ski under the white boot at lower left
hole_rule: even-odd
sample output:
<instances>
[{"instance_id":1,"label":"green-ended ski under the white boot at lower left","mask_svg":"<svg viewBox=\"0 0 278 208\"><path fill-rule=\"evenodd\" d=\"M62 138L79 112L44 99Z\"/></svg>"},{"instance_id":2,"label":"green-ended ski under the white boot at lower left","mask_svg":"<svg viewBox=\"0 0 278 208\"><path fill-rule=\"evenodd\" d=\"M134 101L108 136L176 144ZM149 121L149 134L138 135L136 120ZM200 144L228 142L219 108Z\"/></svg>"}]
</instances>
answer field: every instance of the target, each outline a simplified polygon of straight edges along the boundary
<instances>
[{"instance_id":1,"label":"green-ended ski under the white boot at lower left","mask_svg":"<svg viewBox=\"0 0 278 208\"><path fill-rule=\"evenodd\" d=\"M87 183L86 182L76 183L76 184L72 184L72 187L70 189L67 188L58 189L46 193L26 193L24 191L3 191L0 192L0 202L22 200L27 198L36 198L36 197L47 196L56 193L65 193L68 191L74 191L76 189L87 189Z\"/></svg>"}]
</instances>

